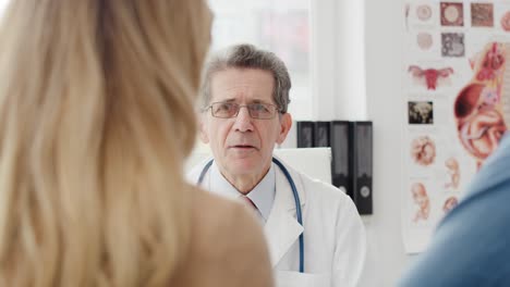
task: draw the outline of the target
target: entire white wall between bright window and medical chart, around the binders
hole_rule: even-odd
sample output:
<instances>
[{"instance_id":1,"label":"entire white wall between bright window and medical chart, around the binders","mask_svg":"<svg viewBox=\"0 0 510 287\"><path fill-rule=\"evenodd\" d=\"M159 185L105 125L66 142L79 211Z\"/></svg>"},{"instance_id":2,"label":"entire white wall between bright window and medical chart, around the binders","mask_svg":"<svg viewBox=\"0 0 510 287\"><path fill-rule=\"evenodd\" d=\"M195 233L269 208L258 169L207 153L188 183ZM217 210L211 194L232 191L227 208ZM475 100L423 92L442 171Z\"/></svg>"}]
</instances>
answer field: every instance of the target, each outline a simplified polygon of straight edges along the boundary
<instances>
[{"instance_id":1,"label":"entire white wall between bright window and medical chart, around the binders","mask_svg":"<svg viewBox=\"0 0 510 287\"><path fill-rule=\"evenodd\" d=\"M374 215L363 219L368 257L360 286L393 286L410 261L400 224L404 3L311 2L314 120L374 122ZM365 30L364 38L354 27Z\"/></svg>"}]
</instances>

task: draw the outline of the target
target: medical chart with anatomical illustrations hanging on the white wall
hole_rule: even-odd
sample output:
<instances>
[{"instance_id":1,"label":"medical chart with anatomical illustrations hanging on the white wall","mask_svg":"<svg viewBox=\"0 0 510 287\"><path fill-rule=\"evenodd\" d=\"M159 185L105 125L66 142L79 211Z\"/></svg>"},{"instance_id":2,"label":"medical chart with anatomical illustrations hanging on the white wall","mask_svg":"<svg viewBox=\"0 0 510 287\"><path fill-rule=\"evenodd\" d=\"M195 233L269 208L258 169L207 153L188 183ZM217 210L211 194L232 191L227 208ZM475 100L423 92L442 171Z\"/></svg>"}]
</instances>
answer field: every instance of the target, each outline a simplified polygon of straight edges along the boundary
<instances>
[{"instance_id":1,"label":"medical chart with anatomical illustrations hanging on the white wall","mask_svg":"<svg viewBox=\"0 0 510 287\"><path fill-rule=\"evenodd\" d=\"M409 0L402 18L402 236L406 252L416 253L507 129L510 0Z\"/></svg>"}]
</instances>

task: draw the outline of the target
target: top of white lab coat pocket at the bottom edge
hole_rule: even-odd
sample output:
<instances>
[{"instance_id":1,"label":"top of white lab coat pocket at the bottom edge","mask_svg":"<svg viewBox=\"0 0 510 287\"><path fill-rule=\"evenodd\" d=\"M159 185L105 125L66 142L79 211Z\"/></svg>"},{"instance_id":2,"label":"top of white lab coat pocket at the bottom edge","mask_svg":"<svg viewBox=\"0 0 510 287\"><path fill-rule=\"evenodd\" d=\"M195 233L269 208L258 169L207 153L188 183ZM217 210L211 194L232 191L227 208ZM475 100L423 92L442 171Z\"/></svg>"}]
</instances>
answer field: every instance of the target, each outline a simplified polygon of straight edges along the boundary
<instances>
[{"instance_id":1,"label":"top of white lab coat pocket at the bottom edge","mask_svg":"<svg viewBox=\"0 0 510 287\"><path fill-rule=\"evenodd\" d=\"M277 287L329 287L330 274L300 273L295 271L277 271Z\"/></svg>"}]
</instances>

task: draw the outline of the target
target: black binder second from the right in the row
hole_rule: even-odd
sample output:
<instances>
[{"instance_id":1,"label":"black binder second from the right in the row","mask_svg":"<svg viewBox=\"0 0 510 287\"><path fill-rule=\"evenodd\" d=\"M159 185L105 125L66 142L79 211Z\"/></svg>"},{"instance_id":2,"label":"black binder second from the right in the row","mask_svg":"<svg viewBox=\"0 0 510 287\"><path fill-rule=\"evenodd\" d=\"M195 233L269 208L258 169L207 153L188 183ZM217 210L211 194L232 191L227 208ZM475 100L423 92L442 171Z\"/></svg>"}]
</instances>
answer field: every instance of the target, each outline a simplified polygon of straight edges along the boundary
<instances>
[{"instance_id":1,"label":"black binder second from the right in the row","mask_svg":"<svg viewBox=\"0 0 510 287\"><path fill-rule=\"evenodd\" d=\"M330 122L331 180L336 187L354 200L352 192L352 144L350 141L350 127L348 121Z\"/></svg>"}]
</instances>

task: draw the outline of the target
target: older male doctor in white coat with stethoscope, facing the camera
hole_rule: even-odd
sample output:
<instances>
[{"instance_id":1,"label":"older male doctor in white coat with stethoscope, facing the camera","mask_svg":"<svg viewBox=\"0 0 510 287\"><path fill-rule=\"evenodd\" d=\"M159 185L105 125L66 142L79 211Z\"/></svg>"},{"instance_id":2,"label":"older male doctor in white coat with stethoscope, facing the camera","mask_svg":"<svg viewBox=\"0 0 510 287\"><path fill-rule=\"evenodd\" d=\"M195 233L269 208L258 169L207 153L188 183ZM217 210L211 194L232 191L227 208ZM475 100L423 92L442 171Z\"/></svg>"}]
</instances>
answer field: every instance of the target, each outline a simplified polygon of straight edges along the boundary
<instances>
[{"instance_id":1,"label":"older male doctor in white coat with stethoscope, facing the camera","mask_svg":"<svg viewBox=\"0 0 510 287\"><path fill-rule=\"evenodd\" d=\"M278 286L355 286L366 251L355 205L336 187L272 160L275 145L292 125L290 88L286 65L271 52L239 45L211 57L202 88L201 139L214 160L190 177L250 202L264 224Z\"/></svg>"}]
</instances>

